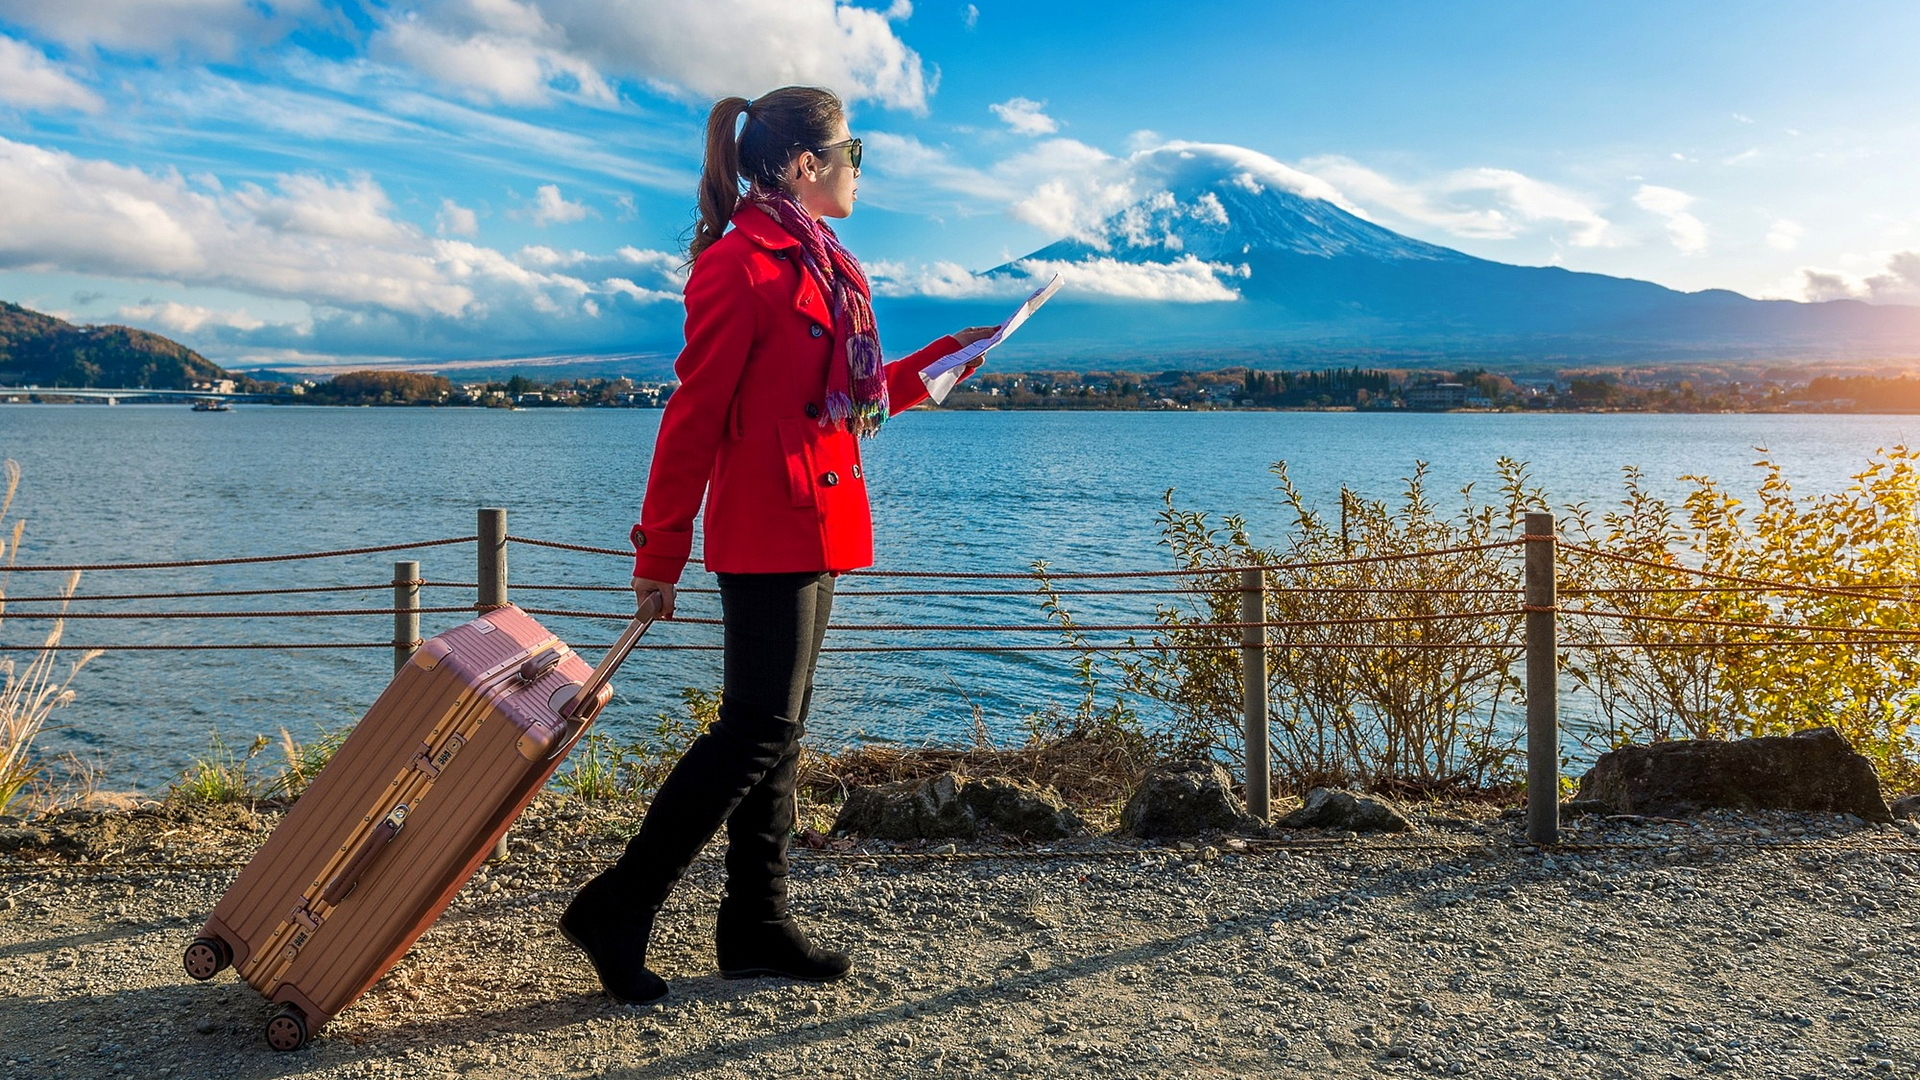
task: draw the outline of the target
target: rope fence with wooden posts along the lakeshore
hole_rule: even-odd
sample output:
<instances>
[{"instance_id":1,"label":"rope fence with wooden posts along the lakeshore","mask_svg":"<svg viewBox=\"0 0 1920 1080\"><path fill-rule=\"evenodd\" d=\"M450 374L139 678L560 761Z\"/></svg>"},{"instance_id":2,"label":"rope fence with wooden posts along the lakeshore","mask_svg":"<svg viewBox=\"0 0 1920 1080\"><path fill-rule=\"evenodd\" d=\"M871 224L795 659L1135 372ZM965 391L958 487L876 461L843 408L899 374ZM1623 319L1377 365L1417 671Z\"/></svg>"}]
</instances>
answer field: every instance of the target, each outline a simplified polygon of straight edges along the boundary
<instances>
[{"instance_id":1,"label":"rope fence with wooden posts along the lakeshore","mask_svg":"<svg viewBox=\"0 0 1920 1080\"><path fill-rule=\"evenodd\" d=\"M507 532L507 513L503 509L482 509L478 528L468 536L447 536L409 544L374 544L361 548L340 548L326 552L298 552L282 555L236 555L209 559L173 561L125 561L125 563L63 563L63 565L0 565L0 580L10 573L111 573L111 571L175 571L194 567L238 567L273 565L315 559L336 559L351 555L372 555L388 552L417 552L445 546L474 546L472 580L428 580L420 575L417 561L396 561L394 577L386 582L348 582L348 584L300 584L280 588L194 588L175 592L106 592L106 594L65 594L40 592L31 596L6 598L0 594L0 623L21 619L36 625L52 625L52 634L42 644L0 646L0 653L90 653L90 651L323 651L323 650L392 650L396 671L409 661L422 644L422 615L463 615L493 611L509 605L507 553L509 546L555 550L586 555L632 557L628 550L597 548L589 544L568 544ZM1488 559L1469 559L1453 563L1453 580L1463 586L1423 586L1423 584L1344 584L1338 578L1315 580L1317 573L1352 567L1386 567L1417 559L1490 555ZM1496 584L1503 575L1511 575L1511 559L1519 555L1521 584ZM1576 565L1576 559L1596 559L1613 565L1642 567L1647 571L1676 575L1686 584L1571 584L1561 590L1557 567ZM1500 569L1505 567L1505 569ZM1275 575L1292 575L1292 580L1275 580ZM1256 817L1267 815L1267 680L1279 657L1286 661L1290 653L1313 655L1327 651L1352 651L1379 661L1384 669L1394 663L1411 663L1413 657L1434 651L1455 653L1498 653L1488 663L1524 665L1526 703L1526 759L1528 790L1553 794L1559 790L1559 705L1557 671L1567 651L1607 651L1607 650L1695 650L1703 653L1724 653L1730 650L1797 650L1797 648L1870 648L1882 650L1872 655L1885 655L1889 648L1920 648L1920 626L1884 625L1830 625L1820 621L1789 621L1778 617L1763 619L1724 619L1692 613L1622 611L1615 607L1563 605L1563 598L1594 598L1601 601L1632 603L1634 598L1651 596L1832 596L1866 600L1874 603L1914 603L1920 601L1920 582L1866 582L1859 586L1814 586L1788 580L1768 580L1764 577L1734 575L1686 567L1680 563L1645 559L1601 548L1569 544L1557 538L1553 515L1528 513L1524 530L1513 540L1484 544L1459 544L1421 552L1396 552L1384 555L1357 555L1340 559L1281 561L1281 563L1240 563L1240 565L1202 565L1177 569L1094 569L1094 571L1052 571L1044 563L1035 563L1029 571L895 571L860 569L849 571L847 578L866 582L874 578L879 588L849 588L837 598L860 600L908 600L943 598L968 601L1044 600L1048 603L1062 598L1204 598L1212 603L1210 619L1185 623L1177 607L1156 603L1156 621L1106 621L1079 625L1066 617L1048 621L975 621L975 623L881 623L854 621L829 623L828 628L847 634L1058 634L1056 644L1025 644L1018 640L1002 642L887 642L887 644L831 644L822 651L829 653L1075 653L1087 655L1175 655L1175 653L1238 653L1238 680L1242 684L1242 721L1246 749L1246 807ZM1300 580L1304 578L1304 580ZM902 582L887 586L889 580ZM1513 580L1505 577L1505 580ZM920 584L925 582L925 584ZM993 582L1023 582L993 584ZM1060 582L1083 582L1068 584ZM630 594L626 584L570 584L570 582L513 582L513 588L551 594L609 596ZM361 607L284 607L284 609L138 609L138 611L100 611L75 609L102 601L150 601L150 600L227 600L227 598L275 598L275 596L351 596L365 592L392 590L390 605ZM422 605L424 590L470 590L472 603ZM687 586L678 590L684 596L714 596L720 590L710 586ZM444 596L444 592L442 592ZM1325 617L1271 617L1269 598L1382 598L1384 603L1415 603L1419 607L1452 603L1467 609L1448 611L1398 611L1388 615L1359 615L1329 609ZM1236 598L1238 617L1231 617L1231 607L1221 601ZM1488 598L1488 600L1473 600ZM1513 600L1519 600L1513 605ZM31 607L17 605L58 605ZM1501 605L1503 603L1503 605ZM616 621L626 623L632 611L601 611L593 607L522 607L528 615L551 619ZM1052 609L1050 609L1052 611ZM1778 601L1759 601L1759 613L1778 613ZM1876 609L1889 611L1889 609ZM1891 609L1899 611L1899 609ZM1052 611L1060 615L1058 611ZM1283 611L1284 613L1284 611ZM1223 617L1225 615L1225 617ZM67 644L60 640L65 621L81 623L173 623L173 621L246 621L246 619L371 619L392 617L394 632L386 640L298 640L298 642L102 642ZM1561 623L1582 619L1582 634L1574 640L1561 640ZM722 621L705 615L685 615L662 621L666 626L707 628ZM1661 638L1634 640L1636 626L1672 626L1676 634L1699 630L1734 630L1745 634L1768 634L1766 638L1741 638L1740 634L1715 634L1692 640ZM1325 630L1336 640L1308 640L1315 630ZM1344 632L1342 632L1344 630ZM1367 630L1379 630L1379 636ZM1275 634L1279 632L1279 634ZM1125 640L1110 640L1112 634L1127 634ZM1146 642L1137 642L1133 634L1152 634ZM660 638L668 640L660 640ZM1108 640L1102 640L1108 636ZM1281 636L1283 640L1273 640ZM1235 640L1236 638L1236 640ZM582 651L607 650L607 644L576 644ZM639 644L645 651L720 651L722 646L699 640L672 640L672 634L655 634ZM1425 661L1423 661L1425 663ZM1438 663L1446 663L1440 659ZM1555 844L1559 830L1557 803L1551 798L1530 799L1526 817L1526 836L1534 844Z\"/></svg>"}]
</instances>

